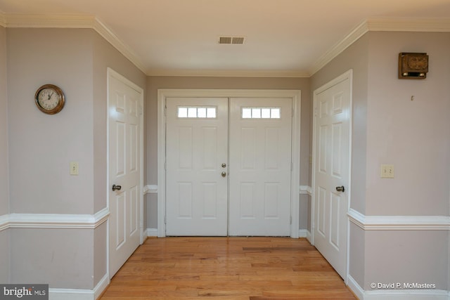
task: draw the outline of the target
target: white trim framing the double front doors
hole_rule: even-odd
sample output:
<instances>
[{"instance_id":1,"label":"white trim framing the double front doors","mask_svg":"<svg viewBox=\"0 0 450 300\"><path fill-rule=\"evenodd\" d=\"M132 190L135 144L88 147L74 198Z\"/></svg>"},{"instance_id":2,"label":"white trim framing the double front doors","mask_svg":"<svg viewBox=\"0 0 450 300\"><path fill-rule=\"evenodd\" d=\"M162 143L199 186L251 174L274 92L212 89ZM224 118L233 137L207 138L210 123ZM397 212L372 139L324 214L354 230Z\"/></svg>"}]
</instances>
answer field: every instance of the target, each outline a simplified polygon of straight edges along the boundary
<instances>
[{"instance_id":1,"label":"white trim framing the double front doors","mask_svg":"<svg viewBox=\"0 0 450 300\"><path fill-rule=\"evenodd\" d=\"M158 237L165 237L166 214L166 98L171 97L226 97L226 98L292 98L293 99L293 131L292 131L292 163L291 176L291 223L290 237L299 237L299 202L300 194L300 90L255 90L255 89L158 89Z\"/></svg>"}]
</instances>

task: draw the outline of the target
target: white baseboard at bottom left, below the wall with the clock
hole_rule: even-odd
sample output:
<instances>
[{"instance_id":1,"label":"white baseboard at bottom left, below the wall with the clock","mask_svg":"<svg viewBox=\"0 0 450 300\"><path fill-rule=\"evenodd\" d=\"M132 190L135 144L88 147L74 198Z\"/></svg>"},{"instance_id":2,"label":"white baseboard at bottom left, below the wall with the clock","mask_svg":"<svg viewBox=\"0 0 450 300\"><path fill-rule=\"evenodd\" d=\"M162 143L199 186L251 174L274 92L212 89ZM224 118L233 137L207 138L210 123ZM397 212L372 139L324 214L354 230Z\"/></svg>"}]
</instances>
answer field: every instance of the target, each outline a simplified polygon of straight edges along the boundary
<instances>
[{"instance_id":1,"label":"white baseboard at bottom left, below the wall with the clock","mask_svg":"<svg viewBox=\"0 0 450 300\"><path fill-rule=\"evenodd\" d=\"M49 289L49 300L96 300L108 284L108 274L105 274L94 289Z\"/></svg>"}]
</instances>

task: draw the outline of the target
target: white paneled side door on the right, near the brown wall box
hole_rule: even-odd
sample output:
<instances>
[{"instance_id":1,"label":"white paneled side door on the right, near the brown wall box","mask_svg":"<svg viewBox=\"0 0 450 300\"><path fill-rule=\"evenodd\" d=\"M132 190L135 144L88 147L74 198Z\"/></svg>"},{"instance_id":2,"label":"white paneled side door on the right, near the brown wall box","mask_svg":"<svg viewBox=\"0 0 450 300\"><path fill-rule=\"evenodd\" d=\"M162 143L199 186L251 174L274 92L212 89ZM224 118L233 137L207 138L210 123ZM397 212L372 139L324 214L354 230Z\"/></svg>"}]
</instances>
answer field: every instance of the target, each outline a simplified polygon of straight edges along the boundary
<instances>
[{"instance_id":1,"label":"white paneled side door on the right, near the brown wall box","mask_svg":"<svg viewBox=\"0 0 450 300\"><path fill-rule=\"evenodd\" d=\"M351 73L314 92L314 246L346 278Z\"/></svg>"}]
</instances>

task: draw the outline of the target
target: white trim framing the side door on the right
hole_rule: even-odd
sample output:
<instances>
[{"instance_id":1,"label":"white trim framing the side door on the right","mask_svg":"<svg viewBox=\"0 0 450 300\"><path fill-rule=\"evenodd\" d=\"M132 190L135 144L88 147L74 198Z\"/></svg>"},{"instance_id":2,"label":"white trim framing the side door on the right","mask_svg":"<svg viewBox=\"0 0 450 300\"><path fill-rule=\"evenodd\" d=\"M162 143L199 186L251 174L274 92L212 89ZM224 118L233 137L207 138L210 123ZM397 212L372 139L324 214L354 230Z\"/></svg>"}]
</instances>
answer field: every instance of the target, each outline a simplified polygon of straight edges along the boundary
<instances>
[{"instance_id":1,"label":"white trim framing the side door on the right","mask_svg":"<svg viewBox=\"0 0 450 300\"><path fill-rule=\"evenodd\" d=\"M345 81L346 79L349 79L349 89L350 89L350 93L349 93L349 126L350 126L350 130L349 130L349 181L348 181L348 188L347 188L347 211L349 211L350 209L350 202L352 199L352 124L353 124L353 115L352 115L352 94L353 94L353 70L348 70L347 72L345 72L344 74L341 74L340 76L336 77L335 79L332 79L331 81L329 81L328 83L324 84L323 86L319 87L319 89L316 89L313 93L313 107L316 103L316 99L317 99L317 95L319 95L319 93L322 93L323 91L326 91L327 89L330 89L330 87L335 86L336 84L339 84L341 81ZM315 205L316 205L316 195L315 195L315 190L316 190L316 113L313 112L313 141L312 141L312 155L313 155L313 166L312 166L312 204L311 204L311 244L314 245L314 230L315 230ZM347 278L349 277L349 248L350 248L350 223L349 223L349 219L348 216L347 217L347 228L345 228L345 230L347 230L347 254L345 255L347 257L347 263L345 266L345 278L344 281L347 284Z\"/></svg>"}]
</instances>

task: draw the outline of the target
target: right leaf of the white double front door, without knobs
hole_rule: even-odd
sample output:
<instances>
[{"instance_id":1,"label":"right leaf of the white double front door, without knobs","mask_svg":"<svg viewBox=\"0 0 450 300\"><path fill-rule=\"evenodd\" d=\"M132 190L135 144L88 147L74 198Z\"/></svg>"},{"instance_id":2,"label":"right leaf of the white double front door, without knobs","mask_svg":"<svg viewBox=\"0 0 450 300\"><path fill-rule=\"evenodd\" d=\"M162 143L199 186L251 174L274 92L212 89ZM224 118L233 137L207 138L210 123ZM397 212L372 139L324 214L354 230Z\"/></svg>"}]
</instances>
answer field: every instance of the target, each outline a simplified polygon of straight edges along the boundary
<instances>
[{"instance_id":1,"label":"right leaf of the white double front door, without knobs","mask_svg":"<svg viewBox=\"0 0 450 300\"><path fill-rule=\"evenodd\" d=\"M291 98L231 98L229 235L290 235Z\"/></svg>"}]
</instances>

